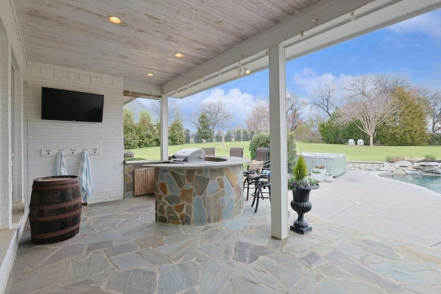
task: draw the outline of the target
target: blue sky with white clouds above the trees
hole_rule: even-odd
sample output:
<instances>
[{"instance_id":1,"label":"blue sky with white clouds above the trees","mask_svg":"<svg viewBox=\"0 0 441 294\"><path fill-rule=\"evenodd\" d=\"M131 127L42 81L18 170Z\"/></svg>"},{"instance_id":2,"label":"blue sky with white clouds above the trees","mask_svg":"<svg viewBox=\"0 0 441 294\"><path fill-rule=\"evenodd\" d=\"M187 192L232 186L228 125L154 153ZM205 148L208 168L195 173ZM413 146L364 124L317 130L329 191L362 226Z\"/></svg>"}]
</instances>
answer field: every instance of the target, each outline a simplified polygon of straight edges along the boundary
<instances>
[{"instance_id":1,"label":"blue sky with white clouds above the trees","mask_svg":"<svg viewBox=\"0 0 441 294\"><path fill-rule=\"evenodd\" d=\"M286 64L287 92L310 100L324 85L345 85L354 76L387 74L413 85L441 87L441 9L300 57ZM185 128L194 132L194 105L222 98L231 127L245 127L252 105L269 96L268 70L184 99L173 99ZM196 116L196 118L195 118Z\"/></svg>"}]
</instances>

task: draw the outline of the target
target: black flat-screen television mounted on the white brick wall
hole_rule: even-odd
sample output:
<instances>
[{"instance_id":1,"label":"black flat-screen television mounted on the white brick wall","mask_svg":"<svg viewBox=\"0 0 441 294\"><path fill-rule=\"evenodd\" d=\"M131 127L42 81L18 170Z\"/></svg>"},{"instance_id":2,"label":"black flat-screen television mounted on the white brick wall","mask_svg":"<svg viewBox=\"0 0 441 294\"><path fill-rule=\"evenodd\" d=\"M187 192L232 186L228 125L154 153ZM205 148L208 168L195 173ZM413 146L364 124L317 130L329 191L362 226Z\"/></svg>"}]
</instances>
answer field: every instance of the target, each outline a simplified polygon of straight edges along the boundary
<instances>
[{"instance_id":1,"label":"black flat-screen television mounted on the white brick wall","mask_svg":"<svg viewBox=\"0 0 441 294\"><path fill-rule=\"evenodd\" d=\"M103 122L104 95L41 87L41 119Z\"/></svg>"}]
</instances>

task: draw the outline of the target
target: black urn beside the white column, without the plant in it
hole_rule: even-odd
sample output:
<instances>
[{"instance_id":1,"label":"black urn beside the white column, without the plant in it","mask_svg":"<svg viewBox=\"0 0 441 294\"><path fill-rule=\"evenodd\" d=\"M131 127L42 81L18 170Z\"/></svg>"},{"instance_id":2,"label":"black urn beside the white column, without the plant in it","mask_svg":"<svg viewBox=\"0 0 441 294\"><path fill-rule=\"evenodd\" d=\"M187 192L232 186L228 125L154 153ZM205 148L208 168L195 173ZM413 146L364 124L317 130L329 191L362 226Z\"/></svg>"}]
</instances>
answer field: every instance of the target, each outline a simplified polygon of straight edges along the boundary
<instances>
[{"instance_id":1,"label":"black urn beside the white column, without the plant in it","mask_svg":"<svg viewBox=\"0 0 441 294\"><path fill-rule=\"evenodd\" d=\"M311 192L310 189L295 189L292 191L291 208L296 211L298 218L290 229L296 233L305 234L312 231L312 227L305 221L305 213L312 208L312 204L309 202L309 192Z\"/></svg>"}]
</instances>

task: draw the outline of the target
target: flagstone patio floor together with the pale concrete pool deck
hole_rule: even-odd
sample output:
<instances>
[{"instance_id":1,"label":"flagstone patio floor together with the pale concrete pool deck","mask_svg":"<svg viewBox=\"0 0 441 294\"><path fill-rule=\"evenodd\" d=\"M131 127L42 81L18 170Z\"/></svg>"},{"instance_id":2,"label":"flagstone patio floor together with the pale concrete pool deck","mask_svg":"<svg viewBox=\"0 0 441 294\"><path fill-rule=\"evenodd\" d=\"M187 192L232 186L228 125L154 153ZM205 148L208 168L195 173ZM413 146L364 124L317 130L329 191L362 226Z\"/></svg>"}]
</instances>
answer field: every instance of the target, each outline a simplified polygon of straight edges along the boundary
<instances>
[{"instance_id":1,"label":"flagstone patio floor together with the pale concrete pool deck","mask_svg":"<svg viewBox=\"0 0 441 294\"><path fill-rule=\"evenodd\" d=\"M440 195L377 174L323 182L313 231L285 240L271 238L268 200L204 227L154 222L153 196L90 204L74 238L34 245L25 231L6 293L440 293ZM427 209L412 219L417 199Z\"/></svg>"}]
</instances>

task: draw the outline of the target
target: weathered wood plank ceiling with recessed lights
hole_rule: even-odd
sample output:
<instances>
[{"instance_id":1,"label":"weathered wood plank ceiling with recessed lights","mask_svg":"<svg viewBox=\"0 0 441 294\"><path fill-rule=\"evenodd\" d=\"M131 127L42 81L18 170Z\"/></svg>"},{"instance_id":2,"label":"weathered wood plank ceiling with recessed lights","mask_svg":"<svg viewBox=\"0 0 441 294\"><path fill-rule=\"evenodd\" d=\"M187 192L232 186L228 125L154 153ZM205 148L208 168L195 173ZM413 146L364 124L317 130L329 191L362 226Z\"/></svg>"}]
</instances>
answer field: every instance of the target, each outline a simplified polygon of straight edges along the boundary
<instances>
[{"instance_id":1,"label":"weathered wood plank ceiling with recessed lights","mask_svg":"<svg viewBox=\"0 0 441 294\"><path fill-rule=\"evenodd\" d=\"M12 0L28 61L167 83L319 0ZM114 25L109 16L121 18ZM178 59L176 53L182 53ZM129 56L121 59L119 54ZM154 76L147 76L152 73Z\"/></svg>"}]
</instances>

